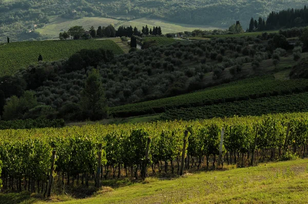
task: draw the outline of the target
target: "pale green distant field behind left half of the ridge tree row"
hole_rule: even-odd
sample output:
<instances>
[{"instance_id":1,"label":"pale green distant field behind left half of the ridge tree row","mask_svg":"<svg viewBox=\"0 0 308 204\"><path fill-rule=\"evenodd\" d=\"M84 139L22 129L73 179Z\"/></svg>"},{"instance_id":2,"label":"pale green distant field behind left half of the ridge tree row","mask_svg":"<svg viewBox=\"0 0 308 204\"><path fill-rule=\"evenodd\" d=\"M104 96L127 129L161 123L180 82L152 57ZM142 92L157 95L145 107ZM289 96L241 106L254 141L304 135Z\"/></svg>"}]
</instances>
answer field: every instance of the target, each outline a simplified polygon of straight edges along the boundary
<instances>
[{"instance_id":1,"label":"pale green distant field behind left half of the ridge tree row","mask_svg":"<svg viewBox=\"0 0 308 204\"><path fill-rule=\"evenodd\" d=\"M59 38L59 33L67 31L73 26L83 26L89 29L94 26L96 29L99 26L108 26L110 24L117 25L120 21L112 18L103 17L84 17L79 19L67 19L62 17L53 16L50 18L50 23L44 28L39 28L36 31L48 35L50 38Z\"/></svg>"}]
</instances>

